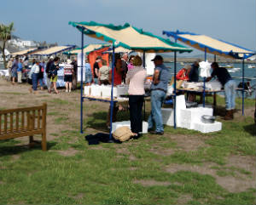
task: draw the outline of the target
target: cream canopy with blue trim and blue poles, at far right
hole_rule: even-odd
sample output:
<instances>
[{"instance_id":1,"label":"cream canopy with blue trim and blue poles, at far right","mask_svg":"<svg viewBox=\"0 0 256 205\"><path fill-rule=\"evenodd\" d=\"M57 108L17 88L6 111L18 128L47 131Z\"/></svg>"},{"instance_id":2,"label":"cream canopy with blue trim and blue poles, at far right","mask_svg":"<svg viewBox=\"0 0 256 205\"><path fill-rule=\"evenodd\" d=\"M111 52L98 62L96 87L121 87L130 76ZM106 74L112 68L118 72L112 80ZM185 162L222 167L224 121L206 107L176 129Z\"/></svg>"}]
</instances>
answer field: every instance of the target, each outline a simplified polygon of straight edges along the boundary
<instances>
[{"instance_id":1,"label":"cream canopy with blue trim and blue poles, at far right","mask_svg":"<svg viewBox=\"0 0 256 205\"><path fill-rule=\"evenodd\" d=\"M207 60L207 53L214 54L215 61L216 55L242 60L242 115L244 115L244 60L253 56L255 51L242 48L234 43L228 43L223 40L192 32L163 31L163 34L166 34L167 37L174 37L175 41L179 40L193 48L197 48L205 52L205 60ZM203 105L205 105L205 79L203 96Z\"/></svg>"}]
</instances>

